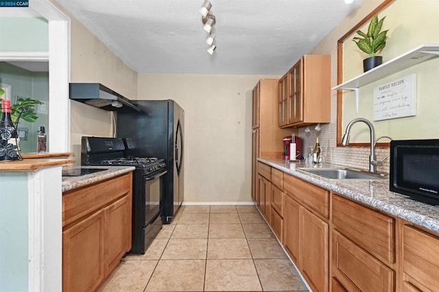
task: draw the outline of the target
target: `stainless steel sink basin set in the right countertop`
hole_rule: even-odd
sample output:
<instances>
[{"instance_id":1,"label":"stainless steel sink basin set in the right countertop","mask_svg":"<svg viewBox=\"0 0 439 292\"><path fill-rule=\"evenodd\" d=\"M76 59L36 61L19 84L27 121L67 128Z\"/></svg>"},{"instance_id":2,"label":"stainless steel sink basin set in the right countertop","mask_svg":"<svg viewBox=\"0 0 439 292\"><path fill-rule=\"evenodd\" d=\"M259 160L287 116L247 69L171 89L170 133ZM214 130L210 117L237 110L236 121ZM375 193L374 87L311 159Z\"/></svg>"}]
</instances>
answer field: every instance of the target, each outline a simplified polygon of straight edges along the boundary
<instances>
[{"instance_id":1,"label":"stainless steel sink basin set in the right countertop","mask_svg":"<svg viewBox=\"0 0 439 292\"><path fill-rule=\"evenodd\" d=\"M355 169L313 169L299 168L302 171L320 175L324 178L333 180L381 180L385 179L385 175L379 173L370 173L368 171L358 171Z\"/></svg>"}]
</instances>

